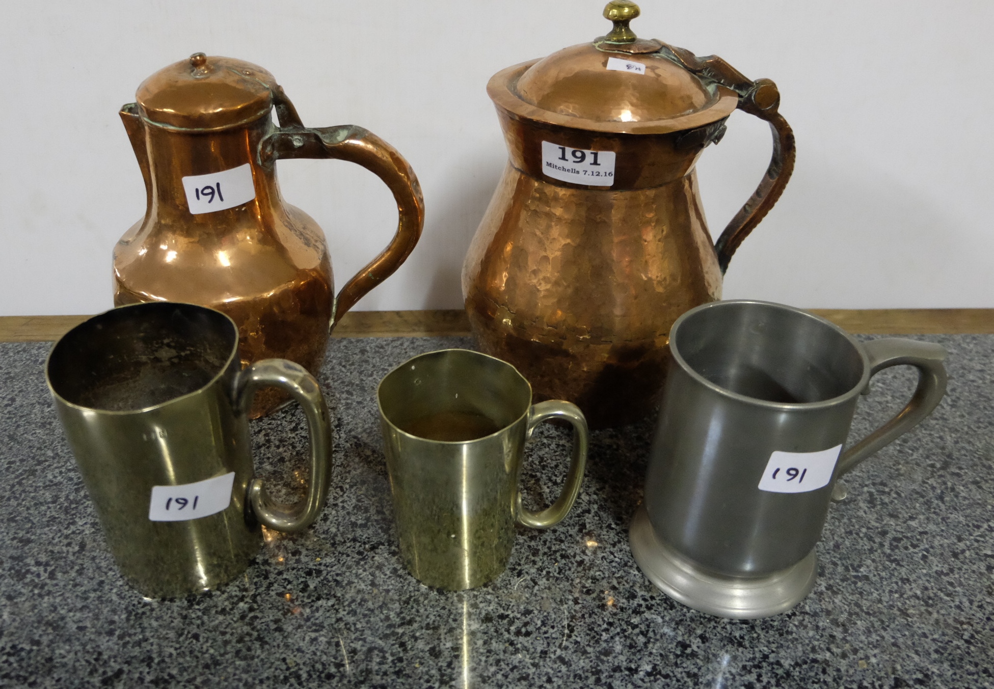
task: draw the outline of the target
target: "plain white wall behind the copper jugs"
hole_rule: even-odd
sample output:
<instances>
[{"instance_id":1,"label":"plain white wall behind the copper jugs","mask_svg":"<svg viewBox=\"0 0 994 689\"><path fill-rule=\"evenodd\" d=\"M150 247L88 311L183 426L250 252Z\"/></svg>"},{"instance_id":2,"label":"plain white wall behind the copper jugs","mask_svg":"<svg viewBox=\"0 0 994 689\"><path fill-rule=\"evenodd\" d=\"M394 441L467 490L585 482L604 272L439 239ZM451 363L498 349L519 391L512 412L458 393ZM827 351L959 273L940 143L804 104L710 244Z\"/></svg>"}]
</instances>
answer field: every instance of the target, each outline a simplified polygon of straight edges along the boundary
<instances>
[{"instance_id":1,"label":"plain white wall behind the copper jugs","mask_svg":"<svg viewBox=\"0 0 994 689\"><path fill-rule=\"evenodd\" d=\"M424 190L424 234L361 309L458 308L462 257L504 145L498 70L602 35L605 0L2 0L0 315L111 306L110 253L144 212L117 116L191 53L269 70L305 124L394 144ZM989 0L642 0L632 24L751 79L773 79L797 135L780 203L732 261L726 297L805 307L994 306ZM699 165L714 236L769 157L737 112ZM284 196L325 229L341 286L396 224L377 178L279 163Z\"/></svg>"}]
</instances>

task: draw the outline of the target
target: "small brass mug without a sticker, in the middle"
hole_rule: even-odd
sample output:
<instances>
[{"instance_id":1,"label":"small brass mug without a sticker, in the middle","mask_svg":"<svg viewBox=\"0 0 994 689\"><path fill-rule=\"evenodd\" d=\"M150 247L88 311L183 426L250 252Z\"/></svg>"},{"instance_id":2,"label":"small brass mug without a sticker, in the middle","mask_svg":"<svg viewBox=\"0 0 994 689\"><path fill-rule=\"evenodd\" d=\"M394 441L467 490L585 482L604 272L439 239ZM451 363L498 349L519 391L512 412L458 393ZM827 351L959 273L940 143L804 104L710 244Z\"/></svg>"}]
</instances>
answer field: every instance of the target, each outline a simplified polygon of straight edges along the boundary
<instances>
[{"instance_id":1,"label":"small brass mug without a sticker, in the middle","mask_svg":"<svg viewBox=\"0 0 994 689\"><path fill-rule=\"evenodd\" d=\"M586 420L569 402L532 404L532 387L507 362L465 349L414 357L377 389L401 556L414 578L462 591L507 566L515 523L559 524L580 493ZM573 458L559 499L522 505L525 442L551 419L574 428Z\"/></svg>"}]
</instances>

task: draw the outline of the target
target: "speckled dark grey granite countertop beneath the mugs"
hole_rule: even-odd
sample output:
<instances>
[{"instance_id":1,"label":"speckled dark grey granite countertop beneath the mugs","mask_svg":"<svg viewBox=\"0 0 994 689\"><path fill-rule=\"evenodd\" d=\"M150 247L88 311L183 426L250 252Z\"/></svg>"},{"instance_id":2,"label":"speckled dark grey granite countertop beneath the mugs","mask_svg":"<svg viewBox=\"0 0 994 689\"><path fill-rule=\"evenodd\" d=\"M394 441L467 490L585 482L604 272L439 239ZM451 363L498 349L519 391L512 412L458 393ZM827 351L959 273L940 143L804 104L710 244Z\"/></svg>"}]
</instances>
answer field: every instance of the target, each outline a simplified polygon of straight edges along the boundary
<instances>
[{"instance_id":1,"label":"speckled dark grey granite countertop beneath the mugs","mask_svg":"<svg viewBox=\"0 0 994 689\"><path fill-rule=\"evenodd\" d=\"M0 345L0 685L994 687L994 336L922 339L949 350L946 400L847 477L814 592L752 621L674 603L635 566L649 423L593 434L574 512L521 530L496 582L453 594L409 576L374 391L414 354L471 346L459 338L334 340L323 516L221 591L145 601L114 570L49 401L49 345ZM912 375L878 376L854 435L903 403ZM536 502L558 491L569 439L537 435ZM253 442L259 473L287 484L302 416L255 423Z\"/></svg>"}]
</instances>

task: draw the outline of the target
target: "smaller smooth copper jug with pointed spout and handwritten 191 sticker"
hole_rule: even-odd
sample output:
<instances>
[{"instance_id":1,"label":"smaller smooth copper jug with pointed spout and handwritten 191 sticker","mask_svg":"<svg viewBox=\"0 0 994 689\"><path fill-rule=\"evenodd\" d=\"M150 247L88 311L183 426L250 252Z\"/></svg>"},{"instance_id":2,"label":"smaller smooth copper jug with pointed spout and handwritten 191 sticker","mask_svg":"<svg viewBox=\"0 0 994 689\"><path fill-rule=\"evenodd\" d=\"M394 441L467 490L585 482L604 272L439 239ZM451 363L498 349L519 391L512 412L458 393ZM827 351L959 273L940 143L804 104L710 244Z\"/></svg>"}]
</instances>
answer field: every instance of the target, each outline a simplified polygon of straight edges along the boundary
<instances>
[{"instance_id":1,"label":"smaller smooth copper jug with pointed spout and handwritten 191 sticker","mask_svg":"<svg viewBox=\"0 0 994 689\"><path fill-rule=\"evenodd\" d=\"M114 249L114 304L216 308L238 324L245 365L289 359L316 375L331 328L420 237L423 201L411 166L362 127L305 127L273 76L241 60L197 53L145 80L136 100L120 116L147 208ZM397 201L390 246L337 296L324 233L280 195L276 161L286 158L358 163ZM284 399L260 391L252 416Z\"/></svg>"}]
</instances>

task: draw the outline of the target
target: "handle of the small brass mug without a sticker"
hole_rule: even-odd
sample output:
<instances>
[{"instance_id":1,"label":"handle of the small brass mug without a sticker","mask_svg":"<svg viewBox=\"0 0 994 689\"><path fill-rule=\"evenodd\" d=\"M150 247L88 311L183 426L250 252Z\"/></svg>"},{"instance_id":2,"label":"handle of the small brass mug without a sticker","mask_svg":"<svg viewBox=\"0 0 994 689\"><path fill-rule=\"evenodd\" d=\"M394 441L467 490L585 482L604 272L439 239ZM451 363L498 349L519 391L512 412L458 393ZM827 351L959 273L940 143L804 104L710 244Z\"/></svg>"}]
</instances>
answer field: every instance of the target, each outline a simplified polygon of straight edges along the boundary
<instances>
[{"instance_id":1,"label":"handle of the small brass mug without a sticker","mask_svg":"<svg viewBox=\"0 0 994 689\"><path fill-rule=\"evenodd\" d=\"M515 518L522 526L529 526L533 529L548 529L566 518L566 515L573 509L574 503L577 502L577 495L580 494L580 483L583 481L583 469L586 466L589 431L586 428L586 419L580 412L580 408L571 402L550 400L532 405L528 411L528 432L525 438L530 438L535 427L550 419L562 419L573 425L573 458L570 460L570 471L567 474L563 491L551 507L539 512L526 509L521 504L521 489L518 489L514 500Z\"/></svg>"}]
</instances>

